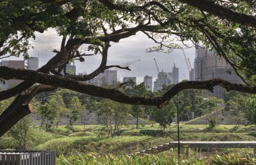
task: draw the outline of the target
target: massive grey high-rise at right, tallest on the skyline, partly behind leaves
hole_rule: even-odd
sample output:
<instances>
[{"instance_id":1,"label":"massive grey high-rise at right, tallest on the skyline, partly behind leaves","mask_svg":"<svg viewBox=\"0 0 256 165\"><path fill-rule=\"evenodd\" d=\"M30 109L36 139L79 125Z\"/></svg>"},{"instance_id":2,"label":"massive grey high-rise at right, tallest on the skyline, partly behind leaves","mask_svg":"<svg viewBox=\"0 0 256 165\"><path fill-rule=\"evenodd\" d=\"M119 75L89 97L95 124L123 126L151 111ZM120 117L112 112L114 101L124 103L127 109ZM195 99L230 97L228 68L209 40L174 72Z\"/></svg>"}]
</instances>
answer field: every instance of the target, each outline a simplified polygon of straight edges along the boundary
<instances>
[{"instance_id":1,"label":"massive grey high-rise at right, tallest on the skyline, partly behind leaves","mask_svg":"<svg viewBox=\"0 0 256 165\"><path fill-rule=\"evenodd\" d=\"M194 62L195 80L205 81L213 78L221 78L232 83L242 82L241 78L238 77L232 67L226 63L223 57L219 57L216 51L212 51L207 47L196 46L196 55ZM227 73L231 70L232 73ZM214 87L214 93L205 91L205 94L210 96L216 96L222 98L224 94L224 88L220 86Z\"/></svg>"}]
</instances>

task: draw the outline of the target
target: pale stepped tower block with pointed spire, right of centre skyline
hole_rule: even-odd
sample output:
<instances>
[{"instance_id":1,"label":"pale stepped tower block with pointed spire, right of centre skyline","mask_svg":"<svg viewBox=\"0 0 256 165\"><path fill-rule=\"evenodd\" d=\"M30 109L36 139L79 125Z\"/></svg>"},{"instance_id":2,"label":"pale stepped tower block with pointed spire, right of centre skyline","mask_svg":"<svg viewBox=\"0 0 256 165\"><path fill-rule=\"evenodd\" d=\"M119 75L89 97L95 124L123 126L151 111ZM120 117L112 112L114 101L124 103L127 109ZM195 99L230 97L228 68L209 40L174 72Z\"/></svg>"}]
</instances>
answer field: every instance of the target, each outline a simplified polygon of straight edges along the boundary
<instances>
[{"instance_id":1,"label":"pale stepped tower block with pointed spire, right of centre skyline","mask_svg":"<svg viewBox=\"0 0 256 165\"><path fill-rule=\"evenodd\" d=\"M179 67L174 66L172 67L172 72L164 72L160 71L158 73L158 78L154 81L154 92L158 90L162 90L162 86L169 86L170 84L177 84L179 83Z\"/></svg>"}]
</instances>

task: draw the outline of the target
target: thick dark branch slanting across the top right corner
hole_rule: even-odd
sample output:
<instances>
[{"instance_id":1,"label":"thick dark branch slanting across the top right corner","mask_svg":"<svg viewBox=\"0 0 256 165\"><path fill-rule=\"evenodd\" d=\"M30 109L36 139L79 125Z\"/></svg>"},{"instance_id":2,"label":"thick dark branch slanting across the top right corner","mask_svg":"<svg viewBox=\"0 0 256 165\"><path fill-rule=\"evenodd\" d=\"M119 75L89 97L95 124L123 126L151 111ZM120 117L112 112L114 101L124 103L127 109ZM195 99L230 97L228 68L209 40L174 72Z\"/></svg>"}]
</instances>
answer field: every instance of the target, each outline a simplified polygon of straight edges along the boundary
<instances>
[{"instance_id":1,"label":"thick dark branch slanting across the top right corner","mask_svg":"<svg viewBox=\"0 0 256 165\"><path fill-rule=\"evenodd\" d=\"M179 0L182 3L186 3L201 11L206 11L218 16L219 18L224 18L228 21L242 24L245 26L251 26L256 28L256 17L253 15L247 15L245 13L238 13L232 9L228 9L222 5L214 3L212 0Z\"/></svg>"}]
</instances>

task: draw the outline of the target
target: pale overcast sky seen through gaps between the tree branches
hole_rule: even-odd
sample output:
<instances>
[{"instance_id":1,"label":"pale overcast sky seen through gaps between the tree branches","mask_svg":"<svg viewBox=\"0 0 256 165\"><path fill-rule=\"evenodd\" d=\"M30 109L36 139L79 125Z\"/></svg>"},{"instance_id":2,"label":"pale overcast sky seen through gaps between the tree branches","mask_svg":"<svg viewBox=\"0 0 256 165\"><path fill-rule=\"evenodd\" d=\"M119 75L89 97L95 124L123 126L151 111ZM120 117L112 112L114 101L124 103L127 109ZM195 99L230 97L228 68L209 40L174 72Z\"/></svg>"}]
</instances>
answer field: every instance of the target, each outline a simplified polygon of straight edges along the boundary
<instances>
[{"instance_id":1,"label":"pale overcast sky seen through gaps between the tree branches","mask_svg":"<svg viewBox=\"0 0 256 165\"><path fill-rule=\"evenodd\" d=\"M59 49L61 37L59 37L54 30L48 30L43 34L36 33L36 40L31 40L31 44L34 46L34 49L29 51L30 56L39 57L39 67L41 67L46 63L46 61L55 55L52 51L54 48ZM156 58L160 71L162 69L166 72L172 71L173 64L175 63L176 67L179 67L179 81L185 79L185 76L187 79L189 78L189 71L181 50L177 49L168 54L146 53L146 48L156 46L156 44L143 33L137 33L135 36L125 38L118 43L110 42L110 44L111 46L108 49L107 65L121 65L136 59L140 60L139 62L133 63L129 66L131 71L119 69L117 71L119 79L126 76L135 76L141 77L138 80L143 81L142 77L145 75L157 77L154 58ZM193 67L195 48L185 49L185 53ZM100 65L100 60L101 55L95 55L86 57L85 62L83 63L76 61L76 74L84 72L91 73L98 67L98 65ZM185 74L185 76L183 74Z\"/></svg>"}]
</instances>

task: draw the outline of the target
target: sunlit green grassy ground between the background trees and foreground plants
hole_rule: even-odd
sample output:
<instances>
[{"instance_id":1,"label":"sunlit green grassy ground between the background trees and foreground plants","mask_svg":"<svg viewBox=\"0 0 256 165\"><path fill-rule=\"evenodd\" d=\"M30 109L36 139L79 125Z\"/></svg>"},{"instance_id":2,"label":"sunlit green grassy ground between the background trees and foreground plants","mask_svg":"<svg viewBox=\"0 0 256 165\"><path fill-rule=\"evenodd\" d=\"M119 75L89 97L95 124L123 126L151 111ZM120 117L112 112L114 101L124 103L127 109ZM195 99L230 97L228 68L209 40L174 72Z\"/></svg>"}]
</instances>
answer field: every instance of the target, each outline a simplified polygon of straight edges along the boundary
<instances>
[{"instance_id":1,"label":"sunlit green grassy ground between the background trees and foreground plants","mask_svg":"<svg viewBox=\"0 0 256 165\"><path fill-rule=\"evenodd\" d=\"M104 153L112 150L113 148L122 146L123 144L139 141L148 137L155 137L170 129L177 128L172 125L170 128L162 131L159 125L145 125L142 129L134 129L133 127L123 127L119 131L119 135L114 138L107 137L106 131L100 125L83 125L75 126L72 131L63 126L58 129L53 128L51 131L46 132L40 127L32 128L32 138L28 143L28 150L56 150L57 154L69 155L72 153L82 152L97 152ZM181 125L181 129L185 130L198 130L205 129L205 125ZM256 127L236 127L234 125L218 125L215 130L256 130ZM256 135L250 133L237 134L237 133L183 133L182 140L189 141L247 141L256 140ZM157 146L163 143L172 141L172 137L162 137L147 143L140 144L137 150L145 150L148 147ZM8 133L0 138L0 148L2 150L17 149L17 144L9 137ZM133 148L134 149L134 148ZM127 149L125 151L129 151Z\"/></svg>"}]
</instances>

